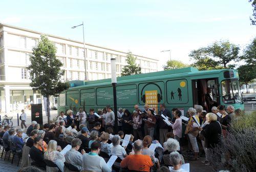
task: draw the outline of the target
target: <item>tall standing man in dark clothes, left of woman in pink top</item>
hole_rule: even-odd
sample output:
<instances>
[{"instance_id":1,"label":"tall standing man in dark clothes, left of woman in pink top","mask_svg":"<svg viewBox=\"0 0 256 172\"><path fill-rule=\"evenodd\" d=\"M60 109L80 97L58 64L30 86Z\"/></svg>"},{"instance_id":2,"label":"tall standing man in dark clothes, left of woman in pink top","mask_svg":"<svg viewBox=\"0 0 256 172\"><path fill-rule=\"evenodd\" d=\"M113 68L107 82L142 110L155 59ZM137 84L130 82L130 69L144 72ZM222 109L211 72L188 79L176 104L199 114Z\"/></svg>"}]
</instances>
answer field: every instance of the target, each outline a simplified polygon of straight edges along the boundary
<instances>
[{"instance_id":1,"label":"tall standing man in dark clothes, left of woman in pink top","mask_svg":"<svg viewBox=\"0 0 256 172\"><path fill-rule=\"evenodd\" d=\"M165 117L172 118L172 115L170 114L170 111L166 109L165 104L160 104L160 111L159 115L164 115ZM167 137L166 134L168 133L168 125L164 122L163 117L159 117L159 136L160 136L160 143L163 145L164 142L166 142Z\"/></svg>"}]
</instances>

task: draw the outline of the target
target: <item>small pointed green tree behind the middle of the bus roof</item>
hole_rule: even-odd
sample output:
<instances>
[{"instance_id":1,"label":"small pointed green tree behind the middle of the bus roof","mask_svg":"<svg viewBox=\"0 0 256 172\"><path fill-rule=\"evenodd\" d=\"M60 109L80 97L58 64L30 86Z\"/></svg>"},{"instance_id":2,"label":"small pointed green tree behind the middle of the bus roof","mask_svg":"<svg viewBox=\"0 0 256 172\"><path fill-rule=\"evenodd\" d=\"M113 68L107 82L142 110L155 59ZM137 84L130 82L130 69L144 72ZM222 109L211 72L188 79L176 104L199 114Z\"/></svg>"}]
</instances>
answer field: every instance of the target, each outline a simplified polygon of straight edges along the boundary
<instances>
[{"instance_id":1,"label":"small pointed green tree behind the middle of the bus roof","mask_svg":"<svg viewBox=\"0 0 256 172\"><path fill-rule=\"evenodd\" d=\"M140 74L141 68L136 65L136 57L133 56L132 52L127 53L126 59L128 65L124 66L121 76Z\"/></svg>"}]
</instances>

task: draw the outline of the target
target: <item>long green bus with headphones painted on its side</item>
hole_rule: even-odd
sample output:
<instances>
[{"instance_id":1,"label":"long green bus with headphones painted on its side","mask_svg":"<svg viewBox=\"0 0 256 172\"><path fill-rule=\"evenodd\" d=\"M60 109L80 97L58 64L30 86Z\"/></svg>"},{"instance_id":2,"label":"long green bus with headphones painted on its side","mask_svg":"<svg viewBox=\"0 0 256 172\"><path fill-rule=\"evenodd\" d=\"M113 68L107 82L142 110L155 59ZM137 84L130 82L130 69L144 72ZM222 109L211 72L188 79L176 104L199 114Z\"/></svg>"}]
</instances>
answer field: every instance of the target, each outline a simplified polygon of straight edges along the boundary
<instances>
[{"instance_id":1,"label":"long green bus with headphones painted on its side","mask_svg":"<svg viewBox=\"0 0 256 172\"><path fill-rule=\"evenodd\" d=\"M113 107L113 87L111 79L95 81L70 81L70 88L58 96L58 113L79 107L102 109L106 105ZM185 113L195 104L203 105L211 111L212 102L216 105L233 105L244 110L239 75L237 70L198 71L188 67L168 71L159 71L117 78L117 107L131 112L134 105L141 109L145 103L158 113L159 105L165 103L168 110L177 107ZM209 90L212 101L207 98Z\"/></svg>"}]
</instances>

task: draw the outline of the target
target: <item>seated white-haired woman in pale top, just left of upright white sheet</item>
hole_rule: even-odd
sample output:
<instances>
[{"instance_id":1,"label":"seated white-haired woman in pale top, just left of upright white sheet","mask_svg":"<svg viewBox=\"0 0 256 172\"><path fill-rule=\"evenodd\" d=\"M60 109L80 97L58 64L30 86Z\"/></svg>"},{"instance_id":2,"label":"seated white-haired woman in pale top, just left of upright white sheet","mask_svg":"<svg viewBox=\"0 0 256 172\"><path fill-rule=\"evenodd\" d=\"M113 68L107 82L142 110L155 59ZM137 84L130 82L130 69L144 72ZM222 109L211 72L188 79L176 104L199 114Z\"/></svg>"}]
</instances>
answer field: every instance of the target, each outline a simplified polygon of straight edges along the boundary
<instances>
[{"instance_id":1,"label":"seated white-haired woman in pale top, just left of upright white sheet","mask_svg":"<svg viewBox=\"0 0 256 172\"><path fill-rule=\"evenodd\" d=\"M111 147L111 155L116 155L121 159L124 159L127 154L125 149L120 145L120 137L119 136L114 136L112 138L112 144L113 146Z\"/></svg>"}]
</instances>

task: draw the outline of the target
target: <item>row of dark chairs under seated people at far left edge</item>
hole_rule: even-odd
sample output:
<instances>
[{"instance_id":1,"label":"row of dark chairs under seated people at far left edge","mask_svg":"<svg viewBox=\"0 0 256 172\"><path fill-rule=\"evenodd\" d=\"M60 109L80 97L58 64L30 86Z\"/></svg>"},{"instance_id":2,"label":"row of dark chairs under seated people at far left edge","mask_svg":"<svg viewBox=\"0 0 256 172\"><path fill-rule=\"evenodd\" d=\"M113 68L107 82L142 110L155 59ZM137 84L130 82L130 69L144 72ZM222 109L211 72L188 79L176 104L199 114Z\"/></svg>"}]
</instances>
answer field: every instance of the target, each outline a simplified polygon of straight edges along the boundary
<instances>
[{"instance_id":1,"label":"row of dark chairs under seated people at far left edge","mask_svg":"<svg viewBox=\"0 0 256 172\"><path fill-rule=\"evenodd\" d=\"M11 143L10 143L11 144ZM12 145L13 146L13 145ZM1 152L2 151L2 152ZM3 158L3 155L5 153L5 157L4 157L4 160L6 160L7 158L7 155L8 155L8 161L10 159L10 156L12 155L12 159L11 159L11 163L13 164L13 160L14 160L14 157L17 157L18 158L18 163L17 163L17 166L19 165L19 161L20 161L20 158L22 158L22 152L15 152L15 150L11 150L10 149L10 146L8 148L5 148L4 147L4 141L3 139L1 138L0 139L0 153L1 153L1 158Z\"/></svg>"}]
</instances>

